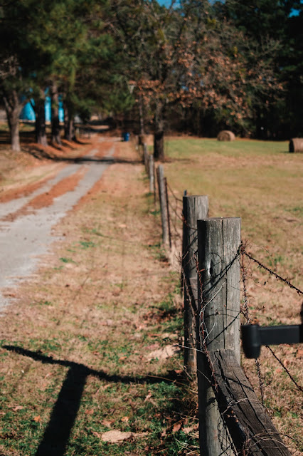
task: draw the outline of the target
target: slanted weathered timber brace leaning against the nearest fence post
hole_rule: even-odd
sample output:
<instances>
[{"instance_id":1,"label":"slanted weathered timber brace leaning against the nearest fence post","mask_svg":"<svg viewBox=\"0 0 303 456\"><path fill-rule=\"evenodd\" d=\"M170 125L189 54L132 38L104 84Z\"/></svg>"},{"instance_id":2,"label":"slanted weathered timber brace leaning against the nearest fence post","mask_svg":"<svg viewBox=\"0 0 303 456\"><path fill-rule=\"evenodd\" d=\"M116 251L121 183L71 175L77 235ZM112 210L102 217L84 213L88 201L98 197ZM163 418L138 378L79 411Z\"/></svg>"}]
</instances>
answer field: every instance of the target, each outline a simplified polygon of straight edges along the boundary
<instances>
[{"instance_id":1,"label":"slanted weathered timber brace leaning against the nearest fence post","mask_svg":"<svg viewBox=\"0 0 303 456\"><path fill-rule=\"evenodd\" d=\"M210 352L216 398L240 455L290 456L233 351Z\"/></svg>"}]
</instances>

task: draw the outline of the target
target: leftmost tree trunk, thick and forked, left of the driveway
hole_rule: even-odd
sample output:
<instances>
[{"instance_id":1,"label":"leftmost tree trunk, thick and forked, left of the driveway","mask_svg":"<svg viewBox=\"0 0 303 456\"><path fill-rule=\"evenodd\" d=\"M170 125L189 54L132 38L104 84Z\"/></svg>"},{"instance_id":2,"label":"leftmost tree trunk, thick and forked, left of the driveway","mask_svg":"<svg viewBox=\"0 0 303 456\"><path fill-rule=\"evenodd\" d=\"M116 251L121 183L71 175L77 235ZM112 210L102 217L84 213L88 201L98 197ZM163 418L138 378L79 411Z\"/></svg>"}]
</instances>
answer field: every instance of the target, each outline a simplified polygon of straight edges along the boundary
<instances>
[{"instance_id":1,"label":"leftmost tree trunk, thick and forked, left of the driveway","mask_svg":"<svg viewBox=\"0 0 303 456\"><path fill-rule=\"evenodd\" d=\"M19 136L19 115L24 103L19 102L18 93L12 90L11 96L4 96L4 105L9 124L9 133L11 138L11 149L14 152L20 152L20 136Z\"/></svg>"}]
</instances>

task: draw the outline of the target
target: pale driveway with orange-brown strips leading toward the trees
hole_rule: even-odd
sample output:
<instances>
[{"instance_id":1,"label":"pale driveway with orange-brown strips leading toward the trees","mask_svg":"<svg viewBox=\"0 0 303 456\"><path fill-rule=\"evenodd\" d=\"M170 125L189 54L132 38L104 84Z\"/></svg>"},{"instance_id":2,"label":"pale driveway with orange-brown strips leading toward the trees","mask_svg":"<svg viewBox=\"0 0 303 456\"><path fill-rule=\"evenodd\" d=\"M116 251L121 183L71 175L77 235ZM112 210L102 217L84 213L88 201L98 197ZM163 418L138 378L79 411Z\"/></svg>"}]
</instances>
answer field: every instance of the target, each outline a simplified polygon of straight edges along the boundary
<instances>
[{"instance_id":1,"label":"pale driveway with orange-brown strips leading toward the trees","mask_svg":"<svg viewBox=\"0 0 303 456\"><path fill-rule=\"evenodd\" d=\"M8 289L31 274L39 256L47 252L55 239L53 226L87 195L115 161L117 141L119 138L98 136L83 157L61 162L51 177L23 187L22 192L15 191L11 199L2 198L0 309L10 299Z\"/></svg>"}]
</instances>

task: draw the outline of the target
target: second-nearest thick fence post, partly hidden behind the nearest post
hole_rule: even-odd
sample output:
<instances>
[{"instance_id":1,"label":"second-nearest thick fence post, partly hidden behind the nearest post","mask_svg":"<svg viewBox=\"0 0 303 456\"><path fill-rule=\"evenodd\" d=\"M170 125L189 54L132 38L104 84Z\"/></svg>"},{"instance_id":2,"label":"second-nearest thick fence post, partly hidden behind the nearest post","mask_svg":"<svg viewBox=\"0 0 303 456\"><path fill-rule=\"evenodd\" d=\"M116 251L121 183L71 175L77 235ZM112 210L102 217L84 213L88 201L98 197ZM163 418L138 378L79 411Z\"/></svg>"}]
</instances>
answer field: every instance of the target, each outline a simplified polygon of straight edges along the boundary
<instances>
[{"instance_id":1,"label":"second-nearest thick fence post, partly hidden behind the nearest post","mask_svg":"<svg viewBox=\"0 0 303 456\"><path fill-rule=\"evenodd\" d=\"M184 284L184 367L196 376L196 319L198 287L196 253L198 250L197 220L208 217L207 196L183 197L182 282Z\"/></svg>"}]
</instances>

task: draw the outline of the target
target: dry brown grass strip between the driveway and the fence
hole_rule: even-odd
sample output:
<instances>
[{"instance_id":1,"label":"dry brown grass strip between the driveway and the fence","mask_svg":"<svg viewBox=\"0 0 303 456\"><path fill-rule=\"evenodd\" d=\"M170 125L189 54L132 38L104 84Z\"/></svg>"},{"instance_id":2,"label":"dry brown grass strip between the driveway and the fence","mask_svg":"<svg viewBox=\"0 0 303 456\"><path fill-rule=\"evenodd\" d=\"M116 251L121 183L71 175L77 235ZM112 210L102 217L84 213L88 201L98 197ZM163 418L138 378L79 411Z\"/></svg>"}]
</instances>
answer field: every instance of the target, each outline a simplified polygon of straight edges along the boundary
<instances>
[{"instance_id":1,"label":"dry brown grass strip between the driveway and the fence","mask_svg":"<svg viewBox=\"0 0 303 456\"><path fill-rule=\"evenodd\" d=\"M77 401L79 410L66 455L196 451L196 404L184 393L182 361L150 356L179 341L178 275L161 251L143 166L129 143L117 156L130 163L108 168L58 224L64 240L1 316L0 454L36 455L41 441L50 444L48 423L60 440L68 415L54 413L63 414L60 395L69 394L71 413ZM132 437L102 442L107 430Z\"/></svg>"}]
</instances>

